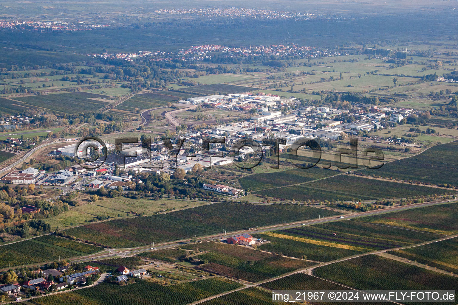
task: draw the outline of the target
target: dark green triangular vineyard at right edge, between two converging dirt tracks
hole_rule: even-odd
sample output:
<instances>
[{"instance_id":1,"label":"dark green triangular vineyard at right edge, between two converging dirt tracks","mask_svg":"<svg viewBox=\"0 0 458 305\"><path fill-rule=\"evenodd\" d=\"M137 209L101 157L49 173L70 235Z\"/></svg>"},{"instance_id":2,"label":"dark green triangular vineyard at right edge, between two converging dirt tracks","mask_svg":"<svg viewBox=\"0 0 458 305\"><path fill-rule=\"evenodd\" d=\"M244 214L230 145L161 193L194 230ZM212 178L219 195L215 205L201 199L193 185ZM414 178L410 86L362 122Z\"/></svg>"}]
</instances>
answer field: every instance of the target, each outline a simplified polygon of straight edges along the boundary
<instances>
[{"instance_id":1,"label":"dark green triangular vineyard at right edge, between two converging dirt tracks","mask_svg":"<svg viewBox=\"0 0 458 305\"><path fill-rule=\"evenodd\" d=\"M458 273L457 238L433 242L428 245L390 251L390 254L427 264L445 271Z\"/></svg>"}]
</instances>

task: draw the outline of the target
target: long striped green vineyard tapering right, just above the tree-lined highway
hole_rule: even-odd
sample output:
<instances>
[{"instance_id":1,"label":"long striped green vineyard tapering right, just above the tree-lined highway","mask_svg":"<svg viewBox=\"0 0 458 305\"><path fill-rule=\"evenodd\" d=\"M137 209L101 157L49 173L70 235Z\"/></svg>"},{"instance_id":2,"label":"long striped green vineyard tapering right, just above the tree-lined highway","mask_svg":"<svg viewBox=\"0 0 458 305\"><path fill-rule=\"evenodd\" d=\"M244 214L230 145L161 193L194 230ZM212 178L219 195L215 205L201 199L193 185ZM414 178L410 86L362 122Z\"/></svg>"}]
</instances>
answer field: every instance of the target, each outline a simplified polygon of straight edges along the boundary
<instances>
[{"instance_id":1,"label":"long striped green vineyard tapering right, just above the tree-lined highway","mask_svg":"<svg viewBox=\"0 0 458 305\"><path fill-rule=\"evenodd\" d=\"M329 172L332 173L332 171ZM266 179L268 179L268 176L275 177L275 174L266 174ZM244 177L240 179L240 181L243 181L244 179L246 180L249 177ZM301 183L299 181L300 180L298 179L297 183ZM241 183L243 186L243 182ZM280 183L281 181L279 184ZM269 197L287 198L290 200L295 199L300 201L337 201L356 199L371 200L380 198L412 198L417 196L428 196L431 194L448 193L448 190L437 187L410 185L406 183L382 181L350 175L338 175L302 185L267 189L254 193Z\"/></svg>"}]
</instances>

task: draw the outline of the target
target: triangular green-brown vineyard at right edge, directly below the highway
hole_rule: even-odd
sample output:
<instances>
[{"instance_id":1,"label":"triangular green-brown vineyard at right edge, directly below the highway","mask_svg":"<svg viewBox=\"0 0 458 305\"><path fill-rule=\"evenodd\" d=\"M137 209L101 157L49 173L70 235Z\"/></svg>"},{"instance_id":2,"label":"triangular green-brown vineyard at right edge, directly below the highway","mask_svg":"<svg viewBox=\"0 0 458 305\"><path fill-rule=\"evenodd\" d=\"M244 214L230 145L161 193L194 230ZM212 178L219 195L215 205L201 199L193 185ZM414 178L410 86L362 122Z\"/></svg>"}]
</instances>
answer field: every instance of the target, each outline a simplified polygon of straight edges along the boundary
<instances>
[{"instance_id":1,"label":"triangular green-brown vineyard at right edge, directly below the highway","mask_svg":"<svg viewBox=\"0 0 458 305\"><path fill-rule=\"evenodd\" d=\"M458 203L447 203L368 216L358 220L373 224L393 225L411 230L451 235L458 233L457 218Z\"/></svg>"}]
</instances>

